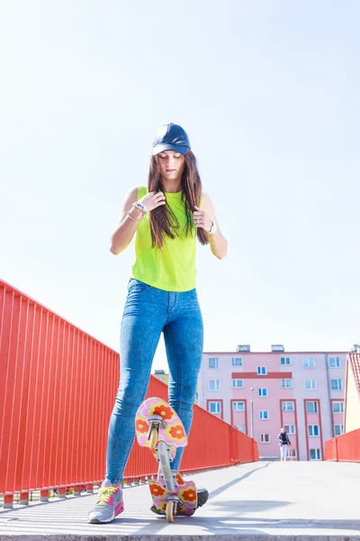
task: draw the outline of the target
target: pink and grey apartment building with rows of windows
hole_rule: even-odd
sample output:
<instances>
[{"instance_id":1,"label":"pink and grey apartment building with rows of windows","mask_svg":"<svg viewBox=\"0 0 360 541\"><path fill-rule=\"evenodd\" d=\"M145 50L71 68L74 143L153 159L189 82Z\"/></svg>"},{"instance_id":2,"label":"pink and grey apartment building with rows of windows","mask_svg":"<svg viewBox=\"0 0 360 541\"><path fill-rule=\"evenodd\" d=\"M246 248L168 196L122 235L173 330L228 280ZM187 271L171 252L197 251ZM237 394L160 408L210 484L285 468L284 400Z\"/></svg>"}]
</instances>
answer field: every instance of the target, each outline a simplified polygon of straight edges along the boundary
<instances>
[{"instance_id":1,"label":"pink and grey apartment building with rows of windows","mask_svg":"<svg viewBox=\"0 0 360 541\"><path fill-rule=\"evenodd\" d=\"M327 439L344 431L346 352L203 353L198 399L202 408L248 436L260 458L279 457L285 426L293 460L322 460Z\"/></svg>"}]
</instances>

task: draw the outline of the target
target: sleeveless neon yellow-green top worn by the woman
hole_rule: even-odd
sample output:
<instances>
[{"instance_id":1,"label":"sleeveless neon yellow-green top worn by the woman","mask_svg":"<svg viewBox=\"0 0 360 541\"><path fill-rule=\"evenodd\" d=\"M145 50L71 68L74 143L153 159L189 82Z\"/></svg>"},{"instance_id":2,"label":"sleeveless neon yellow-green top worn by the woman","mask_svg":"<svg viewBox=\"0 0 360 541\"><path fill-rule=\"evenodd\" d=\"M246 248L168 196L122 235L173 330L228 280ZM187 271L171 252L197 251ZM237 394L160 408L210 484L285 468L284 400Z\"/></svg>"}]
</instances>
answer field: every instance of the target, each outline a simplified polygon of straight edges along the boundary
<instances>
[{"instance_id":1,"label":"sleeveless neon yellow-green top worn by the woman","mask_svg":"<svg viewBox=\"0 0 360 541\"><path fill-rule=\"evenodd\" d=\"M146 186L139 187L138 200L148 193ZM174 212L180 228L186 225L182 202L183 192L166 193L166 203ZM157 289L166 291L189 291L196 284L196 231L187 236L165 237L163 250L151 248L151 232L148 214L139 222L135 238L136 260L132 276Z\"/></svg>"}]
</instances>

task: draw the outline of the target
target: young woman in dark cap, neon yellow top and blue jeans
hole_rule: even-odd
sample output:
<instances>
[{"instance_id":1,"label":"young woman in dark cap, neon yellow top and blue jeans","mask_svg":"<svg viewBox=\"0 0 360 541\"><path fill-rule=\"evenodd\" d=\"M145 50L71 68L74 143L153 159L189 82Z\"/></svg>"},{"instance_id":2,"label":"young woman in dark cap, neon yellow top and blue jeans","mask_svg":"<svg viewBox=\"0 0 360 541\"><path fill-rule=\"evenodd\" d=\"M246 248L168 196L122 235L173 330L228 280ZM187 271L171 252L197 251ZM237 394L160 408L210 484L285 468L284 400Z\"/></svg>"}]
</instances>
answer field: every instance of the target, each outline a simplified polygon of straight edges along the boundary
<instances>
[{"instance_id":1,"label":"young woman in dark cap, neon yellow top and blue jeans","mask_svg":"<svg viewBox=\"0 0 360 541\"><path fill-rule=\"evenodd\" d=\"M151 364L164 333L169 404L189 434L202 362L202 314L196 296L196 237L222 259L228 243L220 233L184 129L157 131L148 187L133 188L112 234L121 253L136 233L136 260L121 322L121 381L109 426L106 475L89 522L111 522L123 510L121 480L135 436L135 415L145 399ZM184 448L172 463L178 470ZM199 504L208 498L199 491ZM157 512L156 508L151 508Z\"/></svg>"}]
</instances>

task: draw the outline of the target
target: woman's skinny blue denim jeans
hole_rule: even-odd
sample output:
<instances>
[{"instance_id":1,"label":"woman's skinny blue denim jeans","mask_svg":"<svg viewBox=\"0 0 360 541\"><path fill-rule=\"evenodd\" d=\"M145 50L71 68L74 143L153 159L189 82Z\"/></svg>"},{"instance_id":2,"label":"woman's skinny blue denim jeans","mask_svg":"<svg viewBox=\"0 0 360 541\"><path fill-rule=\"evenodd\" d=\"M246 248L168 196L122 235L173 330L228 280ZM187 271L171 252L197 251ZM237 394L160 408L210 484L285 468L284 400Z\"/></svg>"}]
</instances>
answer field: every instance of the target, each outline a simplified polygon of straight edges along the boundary
<instances>
[{"instance_id":1,"label":"woman's skinny blue denim jeans","mask_svg":"<svg viewBox=\"0 0 360 541\"><path fill-rule=\"evenodd\" d=\"M120 387L112 410L106 479L121 482L135 437L135 416L148 390L151 364L164 333L169 368L169 404L189 434L202 363L202 313L196 289L175 293L131 279L121 322ZM184 447L171 464L178 470Z\"/></svg>"}]
</instances>

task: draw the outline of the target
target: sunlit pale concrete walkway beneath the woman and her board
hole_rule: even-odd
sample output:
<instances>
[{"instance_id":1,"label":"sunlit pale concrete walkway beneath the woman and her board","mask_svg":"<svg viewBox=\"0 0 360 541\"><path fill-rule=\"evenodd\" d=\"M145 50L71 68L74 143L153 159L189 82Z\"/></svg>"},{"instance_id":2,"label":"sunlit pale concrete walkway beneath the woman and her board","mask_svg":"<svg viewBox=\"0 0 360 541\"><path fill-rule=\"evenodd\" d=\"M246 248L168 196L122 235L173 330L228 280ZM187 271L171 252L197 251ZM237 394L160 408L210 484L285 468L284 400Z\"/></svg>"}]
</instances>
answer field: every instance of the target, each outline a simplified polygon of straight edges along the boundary
<instances>
[{"instance_id":1,"label":"sunlit pale concrete walkway beneath the woman and her board","mask_svg":"<svg viewBox=\"0 0 360 541\"><path fill-rule=\"evenodd\" d=\"M147 485L124 491L125 511L111 524L91 525L86 515L96 495L0 511L0 541L50 537L165 541L278 536L303 540L360 541L360 464L248 463L193 476L210 491L207 504L173 524L150 510Z\"/></svg>"}]
</instances>

